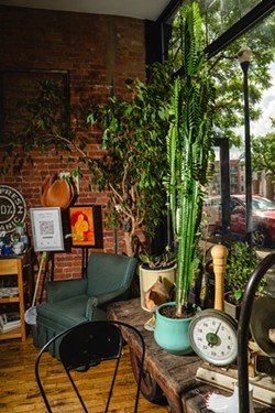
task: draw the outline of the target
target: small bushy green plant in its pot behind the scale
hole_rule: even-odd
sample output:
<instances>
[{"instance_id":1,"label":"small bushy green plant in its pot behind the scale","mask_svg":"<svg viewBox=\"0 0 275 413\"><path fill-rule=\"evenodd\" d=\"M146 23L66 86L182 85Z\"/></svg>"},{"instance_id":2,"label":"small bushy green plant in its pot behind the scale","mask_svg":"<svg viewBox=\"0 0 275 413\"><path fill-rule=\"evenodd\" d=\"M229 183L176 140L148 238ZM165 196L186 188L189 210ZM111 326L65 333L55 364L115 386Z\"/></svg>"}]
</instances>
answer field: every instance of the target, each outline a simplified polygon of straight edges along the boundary
<instances>
[{"instance_id":1,"label":"small bushy green plant in its pot behind the scale","mask_svg":"<svg viewBox=\"0 0 275 413\"><path fill-rule=\"evenodd\" d=\"M256 249L248 242L234 241L229 246L224 278L224 311L235 319L239 319L243 293L258 262ZM258 294L263 292L265 284L266 279L263 278L257 286Z\"/></svg>"}]
</instances>

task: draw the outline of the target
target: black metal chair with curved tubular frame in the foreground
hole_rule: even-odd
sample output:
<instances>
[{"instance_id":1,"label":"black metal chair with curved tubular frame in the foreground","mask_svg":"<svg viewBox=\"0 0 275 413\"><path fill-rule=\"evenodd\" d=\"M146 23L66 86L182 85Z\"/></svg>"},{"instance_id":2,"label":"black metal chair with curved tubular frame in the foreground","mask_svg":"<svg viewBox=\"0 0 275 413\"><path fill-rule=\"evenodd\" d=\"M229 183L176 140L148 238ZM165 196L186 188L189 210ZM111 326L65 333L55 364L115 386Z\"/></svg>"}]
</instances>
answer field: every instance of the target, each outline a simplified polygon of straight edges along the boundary
<instances>
[{"instance_id":1,"label":"black metal chair with curved tubular frame in the foreground","mask_svg":"<svg viewBox=\"0 0 275 413\"><path fill-rule=\"evenodd\" d=\"M106 360L117 360L114 372L112 377L112 382L110 385L110 391L108 395L108 401L105 412L108 412L110 400L112 396L112 391L117 378L117 372L119 368L121 350L123 346L123 337L121 327L130 328L135 332L139 336L142 344L142 354L140 358L140 374L136 387L135 394L135 404L134 412L138 412L139 398L140 398L140 388L143 373L143 363L145 356L145 344L141 333L133 326L116 320L95 320L79 324L75 327L72 327L54 338L52 338L40 351L36 362L35 362L35 378L43 396L43 400L46 404L47 411L52 413L50 402L45 394L41 378L40 378L40 361L42 355L48 350L48 347L53 341L61 339L59 344L59 355L63 367L69 378L69 381L82 405L82 409L86 413L88 410L82 401L82 398L76 387L74 379L72 378L70 371L87 371L90 367L98 366L101 361Z\"/></svg>"}]
</instances>

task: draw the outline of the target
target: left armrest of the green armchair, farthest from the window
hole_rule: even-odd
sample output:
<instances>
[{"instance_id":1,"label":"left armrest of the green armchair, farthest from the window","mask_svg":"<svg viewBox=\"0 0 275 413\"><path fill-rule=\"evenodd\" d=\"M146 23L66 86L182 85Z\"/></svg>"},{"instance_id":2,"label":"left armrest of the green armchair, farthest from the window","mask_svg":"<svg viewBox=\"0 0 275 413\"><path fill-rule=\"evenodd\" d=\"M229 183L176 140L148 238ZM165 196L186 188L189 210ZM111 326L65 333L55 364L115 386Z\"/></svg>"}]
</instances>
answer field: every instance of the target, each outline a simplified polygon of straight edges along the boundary
<instances>
[{"instance_id":1,"label":"left armrest of the green armchair, farthest from the window","mask_svg":"<svg viewBox=\"0 0 275 413\"><path fill-rule=\"evenodd\" d=\"M87 279L52 281L47 283L47 303L57 303L76 295L86 294L87 285Z\"/></svg>"}]
</instances>

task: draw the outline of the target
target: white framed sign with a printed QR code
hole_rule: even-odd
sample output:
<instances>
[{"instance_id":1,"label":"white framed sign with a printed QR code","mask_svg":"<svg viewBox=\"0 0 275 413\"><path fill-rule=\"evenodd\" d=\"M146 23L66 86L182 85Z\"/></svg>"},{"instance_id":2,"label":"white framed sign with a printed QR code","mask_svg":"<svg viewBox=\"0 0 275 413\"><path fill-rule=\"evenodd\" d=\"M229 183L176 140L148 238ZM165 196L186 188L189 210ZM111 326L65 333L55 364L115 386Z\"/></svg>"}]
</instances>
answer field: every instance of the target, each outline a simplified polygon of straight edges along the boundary
<instances>
[{"instance_id":1,"label":"white framed sign with a printed QR code","mask_svg":"<svg viewBox=\"0 0 275 413\"><path fill-rule=\"evenodd\" d=\"M59 207L30 208L35 251L63 251L64 238Z\"/></svg>"}]
</instances>

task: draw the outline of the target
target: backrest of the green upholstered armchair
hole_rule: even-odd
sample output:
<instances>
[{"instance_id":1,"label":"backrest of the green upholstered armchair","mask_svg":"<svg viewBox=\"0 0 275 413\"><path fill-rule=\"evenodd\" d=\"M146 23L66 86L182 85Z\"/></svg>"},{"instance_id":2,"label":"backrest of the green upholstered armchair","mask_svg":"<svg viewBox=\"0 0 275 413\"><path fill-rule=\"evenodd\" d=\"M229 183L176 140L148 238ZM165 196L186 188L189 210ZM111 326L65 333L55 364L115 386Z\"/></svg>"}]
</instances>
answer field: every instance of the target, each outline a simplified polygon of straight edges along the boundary
<instances>
[{"instance_id":1,"label":"backrest of the green upholstered armchair","mask_svg":"<svg viewBox=\"0 0 275 413\"><path fill-rule=\"evenodd\" d=\"M94 252L88 262L88 294L99 295L121 287L129 289L138 260L113 253Z\"/></svg>"}]
</instances>

